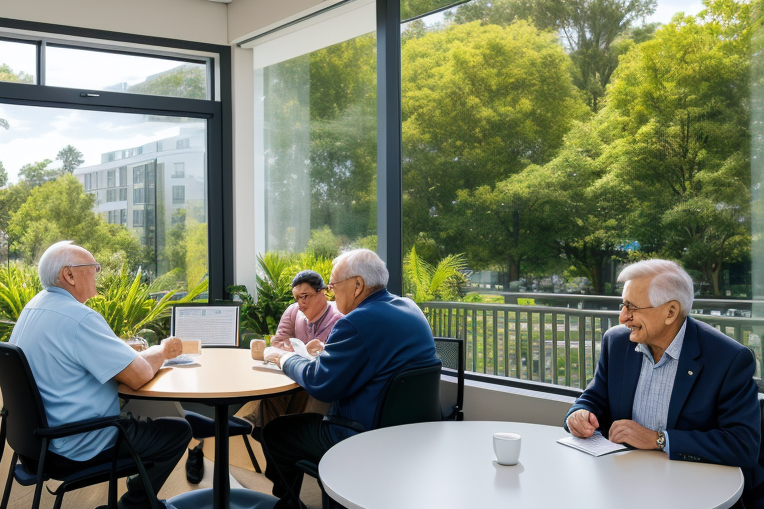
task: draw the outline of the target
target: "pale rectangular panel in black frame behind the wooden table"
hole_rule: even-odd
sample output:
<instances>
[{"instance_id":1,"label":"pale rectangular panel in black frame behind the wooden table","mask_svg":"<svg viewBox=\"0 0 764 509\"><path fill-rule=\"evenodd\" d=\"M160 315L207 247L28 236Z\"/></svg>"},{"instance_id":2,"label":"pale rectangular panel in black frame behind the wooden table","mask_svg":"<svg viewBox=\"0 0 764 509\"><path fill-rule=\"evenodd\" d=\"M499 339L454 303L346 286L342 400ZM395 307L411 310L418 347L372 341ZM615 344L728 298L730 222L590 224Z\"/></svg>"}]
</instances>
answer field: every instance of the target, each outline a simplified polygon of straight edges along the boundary
<instances>
[{"instance_id":1,"label":"pale rectangular panel in black frame behind the wooden table","mask_svg":"<svg viewBox=\"0 0 764 509\"><path fill-rule=\"evenodd\" d=\"M173 304L170 333L206 346L239 346L239 305Z\"/></svg>"}]
</instances>

